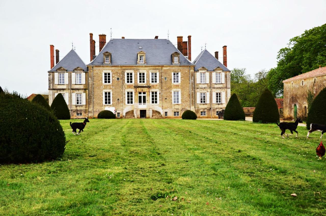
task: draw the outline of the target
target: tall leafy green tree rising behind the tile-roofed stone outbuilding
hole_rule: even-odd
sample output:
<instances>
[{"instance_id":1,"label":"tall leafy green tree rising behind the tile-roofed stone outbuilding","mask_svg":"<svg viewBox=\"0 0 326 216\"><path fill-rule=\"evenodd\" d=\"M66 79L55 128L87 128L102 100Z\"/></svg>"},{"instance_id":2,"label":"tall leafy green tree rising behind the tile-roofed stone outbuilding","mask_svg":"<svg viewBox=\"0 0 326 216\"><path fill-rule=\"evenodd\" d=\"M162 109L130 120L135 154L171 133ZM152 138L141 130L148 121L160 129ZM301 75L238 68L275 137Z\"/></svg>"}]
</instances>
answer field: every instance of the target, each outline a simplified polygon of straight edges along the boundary
<instances>
[{"instance_id":1,"label":"tall leafy green tree rising behind the tile-roofed stone outbuilding","mask_svg":"<svg viewBox=\"0 0 326 216\"><path fill-rule=\"evenodd\" d=\"M269 89L273 94L283 94L283 80L326 66L326 24L305 30L290 39L288 47L280 49L277 67L268 73Z\"/></svg>"}]
</instances>

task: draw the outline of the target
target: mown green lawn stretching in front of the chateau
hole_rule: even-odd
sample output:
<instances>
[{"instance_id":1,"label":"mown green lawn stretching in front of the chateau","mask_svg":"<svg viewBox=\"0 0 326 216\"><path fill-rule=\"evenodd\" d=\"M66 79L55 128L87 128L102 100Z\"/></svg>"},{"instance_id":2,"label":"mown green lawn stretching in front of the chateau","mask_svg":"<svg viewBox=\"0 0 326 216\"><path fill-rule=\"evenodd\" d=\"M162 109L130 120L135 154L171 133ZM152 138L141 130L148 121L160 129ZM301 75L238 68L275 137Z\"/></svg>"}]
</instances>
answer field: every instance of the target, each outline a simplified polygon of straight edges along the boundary
<instances>
[{"instance_id":1,"label":"mown green lawn stretching in front of the chateau","mask_svg":"<svg viewBox=\"0 0 326 216\"><path fill-rule=\"evenodd\" d=\"M74 136L61 123L60 160L0 166L0 215L326 215L320 132L282 139L276 124L90 119Z\"/></svg>"}]
</instances>

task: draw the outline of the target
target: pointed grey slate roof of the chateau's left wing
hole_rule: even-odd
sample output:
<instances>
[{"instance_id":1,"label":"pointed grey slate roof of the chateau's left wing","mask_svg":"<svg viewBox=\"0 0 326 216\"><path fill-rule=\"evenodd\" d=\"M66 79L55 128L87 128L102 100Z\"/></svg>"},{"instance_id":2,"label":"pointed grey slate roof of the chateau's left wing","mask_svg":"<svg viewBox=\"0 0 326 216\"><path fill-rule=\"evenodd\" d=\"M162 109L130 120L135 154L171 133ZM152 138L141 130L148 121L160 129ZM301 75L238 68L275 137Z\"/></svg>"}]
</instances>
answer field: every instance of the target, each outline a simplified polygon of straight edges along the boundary
<instances>
[{"instance_id":1,"label":"pointed grey slate roof of the chateau's left wing","mask_svg":"<svg viewBox=\"0 0 326 216\"><path fill-rule=\"evenodd\" d=\"M79 57L79 55L71 49L70 52L61 59L50 71L56 71L56 69L64 67L67 71L73 71L77 67L81 67L84 71L87 71L87 66Z\"/></svg>"}]
</instances>

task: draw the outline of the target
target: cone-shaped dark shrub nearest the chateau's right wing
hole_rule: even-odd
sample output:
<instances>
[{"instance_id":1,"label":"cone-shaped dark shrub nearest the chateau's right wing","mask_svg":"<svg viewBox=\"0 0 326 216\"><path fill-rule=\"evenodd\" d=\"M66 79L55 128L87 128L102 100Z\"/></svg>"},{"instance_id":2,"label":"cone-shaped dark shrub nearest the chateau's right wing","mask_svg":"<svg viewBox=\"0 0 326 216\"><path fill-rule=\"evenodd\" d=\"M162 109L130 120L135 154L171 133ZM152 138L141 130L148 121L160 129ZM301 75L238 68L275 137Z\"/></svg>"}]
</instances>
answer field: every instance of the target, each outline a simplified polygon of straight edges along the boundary
<instances>
[{"instance_id":1,"label":"cone-shaped dark shrub nearest the chateau's right wing","mask_svg":"<svg viewBox=\"0 0 326 216\"><path fill-rule=\"evenodd\" d=\"M232 94L224 111L224 120L245 120L244 109L242 108L236 94Z\"/></svg>"}]
</instances>

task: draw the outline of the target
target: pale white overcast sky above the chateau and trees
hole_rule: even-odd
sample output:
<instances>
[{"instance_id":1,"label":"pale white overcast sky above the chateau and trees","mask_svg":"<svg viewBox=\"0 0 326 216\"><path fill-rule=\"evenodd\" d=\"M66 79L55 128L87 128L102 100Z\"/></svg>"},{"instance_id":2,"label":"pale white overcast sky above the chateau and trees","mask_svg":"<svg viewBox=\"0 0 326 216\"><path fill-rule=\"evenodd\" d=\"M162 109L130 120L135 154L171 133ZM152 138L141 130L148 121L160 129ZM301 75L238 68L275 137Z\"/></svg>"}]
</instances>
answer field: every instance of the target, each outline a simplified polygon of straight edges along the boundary
<instances>
[{"instance_id":1,"label":"pale white overcast sky above the chateau and trees","mask_svg":"<svg viewBox=\"0 0 326 216\"><path fill-rule=\"evenodd\" d=\"M228 68L254 74L276 66L290 38L326 22L326 1L1 1L0 86L23 95L47 91L50 44L62 59L71 41L85 64L89 33L112 38L166 39L191 35L192 61L207 43L228 46ZM96 54L98 47L96 47ZM223 58L220 61L223 62Z\"/></svg>"}]
</instances>

